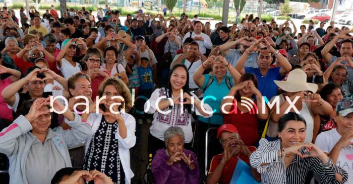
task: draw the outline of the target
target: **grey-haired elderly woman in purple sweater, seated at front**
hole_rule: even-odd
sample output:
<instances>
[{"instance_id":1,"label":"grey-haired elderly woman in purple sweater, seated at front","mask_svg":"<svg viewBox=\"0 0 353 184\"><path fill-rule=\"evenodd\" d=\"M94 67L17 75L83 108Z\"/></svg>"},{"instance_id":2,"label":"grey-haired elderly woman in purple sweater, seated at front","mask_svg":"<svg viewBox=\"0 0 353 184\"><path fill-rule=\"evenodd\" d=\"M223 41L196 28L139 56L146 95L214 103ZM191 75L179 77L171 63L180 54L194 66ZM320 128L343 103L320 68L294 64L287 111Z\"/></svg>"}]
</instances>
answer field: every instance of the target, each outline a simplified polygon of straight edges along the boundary
<instances>
[{"instance_id":1,"label":"grey-haired elderly woman in purple sweater, seated at front","mask_svg":"<svg viewBox=\"0 0 353 184\"><path fill-rule=\"evenodd\" d=\"M157 151L152 160L152 173L156 183L199 183L200 171L195 153L184 149L184 132L170 127L164 132L165 149Z\"/></svg>"}]
</instances>

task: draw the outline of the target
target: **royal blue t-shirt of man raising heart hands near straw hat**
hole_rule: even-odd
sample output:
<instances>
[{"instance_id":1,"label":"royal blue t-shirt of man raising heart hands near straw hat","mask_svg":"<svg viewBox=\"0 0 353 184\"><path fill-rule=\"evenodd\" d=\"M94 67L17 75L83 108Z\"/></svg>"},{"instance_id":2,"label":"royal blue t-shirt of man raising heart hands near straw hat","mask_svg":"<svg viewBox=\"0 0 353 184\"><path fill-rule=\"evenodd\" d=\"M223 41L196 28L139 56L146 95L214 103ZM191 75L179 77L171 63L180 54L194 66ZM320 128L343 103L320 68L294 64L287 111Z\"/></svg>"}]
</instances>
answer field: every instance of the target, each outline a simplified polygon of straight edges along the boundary
<instances>
[{"instance_id":1,"label":"royal blue t-shirt of man raising heart hands near straw hat","mask_svg":"<svg viewBox=\"0 0 353 184\"><path fill-rule=\"evenodd\" d=\"M284 77L279 73L280 67L269 68L266 75L262 75L259 68L245 67L246 73L253 73L258 80L258 89L262 96L270 100L277 95L277 85L273 80L282 80Z\"/></svg>"}]
</instances>

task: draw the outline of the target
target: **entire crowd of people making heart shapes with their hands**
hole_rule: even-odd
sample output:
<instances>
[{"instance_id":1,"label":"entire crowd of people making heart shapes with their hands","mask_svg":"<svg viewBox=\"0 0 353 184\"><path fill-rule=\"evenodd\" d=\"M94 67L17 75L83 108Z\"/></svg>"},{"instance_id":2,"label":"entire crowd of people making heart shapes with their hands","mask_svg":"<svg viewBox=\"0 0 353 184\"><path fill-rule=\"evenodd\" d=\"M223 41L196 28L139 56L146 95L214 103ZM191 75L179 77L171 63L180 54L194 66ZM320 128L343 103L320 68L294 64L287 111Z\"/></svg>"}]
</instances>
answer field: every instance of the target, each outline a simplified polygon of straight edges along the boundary
<instances>
[{"instance_id":1,"label":"entire crowd of people making heart shapes with their hands","mask_svg":"<svg viewBox=\"0 0 353 184\"><path fill-rule=\"evenodd\" d=\"M348 27L24 10L0 12L10 183L137 183L144 142L148 183L353 183Z\"/></svg>"}]
</instances>

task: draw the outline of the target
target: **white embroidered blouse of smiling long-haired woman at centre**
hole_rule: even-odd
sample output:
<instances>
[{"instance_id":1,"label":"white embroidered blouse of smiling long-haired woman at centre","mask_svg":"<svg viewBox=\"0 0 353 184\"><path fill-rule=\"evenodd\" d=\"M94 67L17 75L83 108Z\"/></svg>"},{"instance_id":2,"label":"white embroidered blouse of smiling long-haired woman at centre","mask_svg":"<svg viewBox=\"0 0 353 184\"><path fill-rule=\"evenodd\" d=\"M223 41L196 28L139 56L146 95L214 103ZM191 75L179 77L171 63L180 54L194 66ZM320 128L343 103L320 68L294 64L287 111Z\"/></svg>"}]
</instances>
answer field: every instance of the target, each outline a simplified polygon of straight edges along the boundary
<instances>
[{"instance_id":1,"label":"white embroidered blouse of smiling long-haired woman at centre","mask_svg":"<svg viewBox=\"0 0 353 184\"><path fill-rule=\"evenodd\" d=\"M200 101L195 94L191 93L191 95L192 97L194 97L195 101ZM184 111L182 113L182 108L180 105L174 105L169 114L162 114L156 112L156 107L158 106L157 99L162 96L165 96L165 89L157 88L153 91L151 98L144 105L144 109L148 110L147 113L153 114L153 121L152 126L150 127L150 133L159 140L164 141L164 132L169 127L177 126L183 129L183 132L185 134L185 142L190 143L193 138L193 130L191 127L191 112L188 112L186 108L184 108ZM160 101L164 101L166 99L167 98L165 96L165 98L162 98ZM201 113L197 110L197 108L192 107L191 109L195 109L196 115L202 116ZM206 111L212 112L212 108L208 104L204 104L204 109ZM164 110L168 110L168 108ZM160 112L164 110L161 110ZM202 117L209 118L212 115L213 114L209 114L207 117Z\"/></svg>"}]
</instances>

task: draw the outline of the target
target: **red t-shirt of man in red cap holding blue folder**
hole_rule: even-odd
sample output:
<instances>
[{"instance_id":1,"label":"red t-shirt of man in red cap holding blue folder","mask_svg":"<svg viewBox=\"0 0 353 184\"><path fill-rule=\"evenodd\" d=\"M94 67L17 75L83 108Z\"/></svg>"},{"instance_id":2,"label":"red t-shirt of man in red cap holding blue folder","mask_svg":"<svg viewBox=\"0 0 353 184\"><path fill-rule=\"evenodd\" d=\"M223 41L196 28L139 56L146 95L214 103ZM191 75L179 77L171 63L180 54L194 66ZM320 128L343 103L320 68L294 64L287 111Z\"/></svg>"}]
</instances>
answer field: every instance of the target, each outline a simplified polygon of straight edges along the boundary
<instances>
[{"instance_id":1,"label":"red t-shirt of man in red cap holding blue folder","mask_svg":"<svg viewBox=\"0 0 353 184\"><path fill-rule=\"evenodd\" d=\"M256 151L256 147L254 147L254 146L248 146L248 149L251 152ZM218 154L212 158L210 170L209 170L210 173L213 172L217 168L218 164L220 163L220 161L222 159L222 156L223 156L223 153ZM240 153L238 156L240 157L240 159L242 159L248 165L250 165L250 160L246 155L244 155L243 153ZM230 182L230 179L233 176L234 169L236 169L236 166L238 163L238 156L231 157L230 160L228 160L227 163L225 163L223 171L222 171L221 179L218 183L227 183L228 184Z\"/></svg>"}]
</instances>

